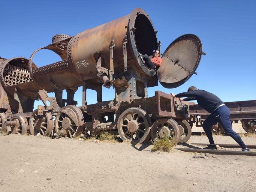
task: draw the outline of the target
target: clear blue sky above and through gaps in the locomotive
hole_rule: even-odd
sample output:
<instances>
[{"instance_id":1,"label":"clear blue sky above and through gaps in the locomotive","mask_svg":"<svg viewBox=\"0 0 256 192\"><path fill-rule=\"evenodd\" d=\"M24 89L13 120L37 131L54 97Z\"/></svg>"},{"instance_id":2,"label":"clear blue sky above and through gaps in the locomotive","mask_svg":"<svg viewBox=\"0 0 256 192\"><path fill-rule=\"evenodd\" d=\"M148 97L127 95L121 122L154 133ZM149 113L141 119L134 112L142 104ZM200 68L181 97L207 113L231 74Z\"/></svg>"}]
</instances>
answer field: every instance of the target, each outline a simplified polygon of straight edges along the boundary
<instances>
[{"instance_id":1,"label":"clear blue sky above and through gaps in the locomotive","mask_svg":"<svg viewBox=\"0 0 256 192\"><path fill-rule=\"evenodd\" d=\"M203 44L198 75L178 88L161 85L148 89L166 93L186 91L191 85L217 95L224 102L256 99L256 1L6 1L0 2L0 56L29 58L51 43L58 33L76 35L132 12L144 9L157 31L164 50L180 35L193 33ZM38 67L59 61L49 50L38 52ZM95 103L95 93L88 98ZM81 106L81 88L75 94ZM103 100L112 100L112 88Z\"/></svg>"}]
</instances>

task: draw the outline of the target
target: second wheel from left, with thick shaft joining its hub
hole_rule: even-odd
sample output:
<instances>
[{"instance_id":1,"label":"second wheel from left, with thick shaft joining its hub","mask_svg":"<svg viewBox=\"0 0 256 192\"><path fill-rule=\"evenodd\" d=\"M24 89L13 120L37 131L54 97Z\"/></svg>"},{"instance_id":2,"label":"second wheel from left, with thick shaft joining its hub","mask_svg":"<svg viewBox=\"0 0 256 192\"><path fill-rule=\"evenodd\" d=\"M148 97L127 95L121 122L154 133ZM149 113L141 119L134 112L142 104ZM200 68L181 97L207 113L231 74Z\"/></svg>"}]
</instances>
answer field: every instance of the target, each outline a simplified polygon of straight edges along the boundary
<instances>
[{"instance_id":1,"label":"second wheel from left, with thick shaft joining its hub","mask_svg":"<svg viewBox=\"0 0 256 192\"><path fill-rule=\"evenodd\" d=\"M26 135L27 134L27 125L28 121L23 116L14 116L11 118L11 121L16 121L16 125L11 125L11 133L12 134L19 134L19 135Z\"/></svg>"}]
</instances>

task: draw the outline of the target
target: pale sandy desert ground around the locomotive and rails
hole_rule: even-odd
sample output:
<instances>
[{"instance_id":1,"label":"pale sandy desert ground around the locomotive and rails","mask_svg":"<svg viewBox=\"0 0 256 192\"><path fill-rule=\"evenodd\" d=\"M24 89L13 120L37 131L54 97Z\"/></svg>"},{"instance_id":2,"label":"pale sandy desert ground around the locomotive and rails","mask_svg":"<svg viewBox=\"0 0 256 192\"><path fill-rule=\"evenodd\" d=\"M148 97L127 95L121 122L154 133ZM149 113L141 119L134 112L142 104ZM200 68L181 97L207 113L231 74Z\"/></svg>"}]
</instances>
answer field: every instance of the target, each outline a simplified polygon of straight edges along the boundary
<instances>
[{"instance_id":1,"label":"pale sandy desert ground around the locomotive and rails","mask_svg":"<svg viewBox=\"0 0 256 192\"><path fill-rule=\"evenodd\" d=\"M233 128L243 132L239 125ZM214 139L215 143L236 144L228 136ZM246 144L256 144L256 137L242 139ZM204 135L192 135L188 143L207 141ZM127 142L94 143L13 134L1 135L0 145L1 192L256 191L253 156L213 158L174 149L185 147L182 145L174 146L170 153L151 152L148 143L134 146ZM195 155L204 158L193 158Z\"/></svg>"}]
</instances>

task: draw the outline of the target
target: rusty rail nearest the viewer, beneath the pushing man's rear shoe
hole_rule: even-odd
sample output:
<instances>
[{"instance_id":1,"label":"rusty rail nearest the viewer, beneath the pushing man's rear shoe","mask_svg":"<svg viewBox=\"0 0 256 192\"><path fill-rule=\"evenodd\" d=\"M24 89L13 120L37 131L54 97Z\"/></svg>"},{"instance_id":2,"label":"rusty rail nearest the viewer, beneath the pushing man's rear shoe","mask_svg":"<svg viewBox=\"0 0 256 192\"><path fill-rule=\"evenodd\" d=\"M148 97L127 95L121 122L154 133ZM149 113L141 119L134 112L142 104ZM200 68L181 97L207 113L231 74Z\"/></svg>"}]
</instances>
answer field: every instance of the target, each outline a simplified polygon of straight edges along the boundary
<instances>
[{"instance_id":1,"label":"rusty rail nearest the viewer, beneath the pushing man's rear shoe","mask_svg":"<svg viewBox=\"0 0 256 192\"><path fill-rule=\"evenodd\" d=\"M256 152L244 152L244 151L229 151L229 150L211 150L211 149L190 149L190 148L175 148L180 151L185 152L197 152L197 153L209 153L215 155L247 155L247 156L256 156Z\"/></svg>"}]
</instances>

